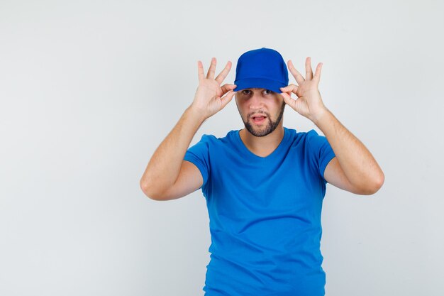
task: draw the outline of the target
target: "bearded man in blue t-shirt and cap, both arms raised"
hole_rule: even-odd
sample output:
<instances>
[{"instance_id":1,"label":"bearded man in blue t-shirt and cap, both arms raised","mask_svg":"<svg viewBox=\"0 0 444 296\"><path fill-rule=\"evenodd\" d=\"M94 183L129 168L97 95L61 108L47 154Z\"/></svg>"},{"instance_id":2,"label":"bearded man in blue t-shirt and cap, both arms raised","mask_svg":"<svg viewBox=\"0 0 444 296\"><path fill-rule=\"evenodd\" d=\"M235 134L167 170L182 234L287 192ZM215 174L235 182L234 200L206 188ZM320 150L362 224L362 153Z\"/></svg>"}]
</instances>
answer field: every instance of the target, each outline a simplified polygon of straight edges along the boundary
<instances>
[{"instance_id":1,"label":"bearded man in blue t-shirt and cap, both arms raised","mask_svg":"<svg viewBox=\"0 0 444 296\"><path fill-rule=\"evenodd\" d=\"M288 85L282 55L260 48L241 55L235 84L221 87L231 62L214 78L216 58L206 76L198 61L194 101L155 150L140 186L155 200L201 188L211 232L207 296L324 295L320 243L326 183L374 194L384 182L370 151L324 106L321 67L313 75L307 57L304 79L289 60L298 86ZM189 148L199 126L234 95L245 128L223 138L204 135ZM326 136L284 127L286 104Z\"/></svg>"}]
</instances>

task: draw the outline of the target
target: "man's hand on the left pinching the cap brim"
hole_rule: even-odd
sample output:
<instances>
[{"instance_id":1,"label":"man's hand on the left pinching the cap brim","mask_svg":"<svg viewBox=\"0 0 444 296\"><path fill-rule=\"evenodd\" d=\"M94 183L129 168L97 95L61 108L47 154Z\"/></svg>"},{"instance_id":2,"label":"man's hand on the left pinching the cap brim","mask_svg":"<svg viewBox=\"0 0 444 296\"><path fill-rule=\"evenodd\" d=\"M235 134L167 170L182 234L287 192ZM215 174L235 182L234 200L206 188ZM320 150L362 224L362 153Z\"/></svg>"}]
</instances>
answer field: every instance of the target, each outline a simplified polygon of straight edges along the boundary
<instances>
[{"instance_id":1,"label":"man's hand on the left pinching the cap brim","mask_svg":"<svg viewBox=\"0 0 444 296\"><path fill-rule=\"evenodd\" d=\"M211 65L206 77L204 76L204 67L200 60L197 61L197 67L199 70L199 87L197 87L194 100L191 105L192 109L196 110L204 117L209 117L221 111L223 107L228 104L235 92L235 84L224 84L221 87L221 83L228 75L231 69L231 62L228 61L225 69L214 79L214 71L216 70L216 57L211 59ZM222 97L226 94L225 97Z\"/></svg>"}]
</instances>

